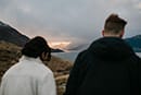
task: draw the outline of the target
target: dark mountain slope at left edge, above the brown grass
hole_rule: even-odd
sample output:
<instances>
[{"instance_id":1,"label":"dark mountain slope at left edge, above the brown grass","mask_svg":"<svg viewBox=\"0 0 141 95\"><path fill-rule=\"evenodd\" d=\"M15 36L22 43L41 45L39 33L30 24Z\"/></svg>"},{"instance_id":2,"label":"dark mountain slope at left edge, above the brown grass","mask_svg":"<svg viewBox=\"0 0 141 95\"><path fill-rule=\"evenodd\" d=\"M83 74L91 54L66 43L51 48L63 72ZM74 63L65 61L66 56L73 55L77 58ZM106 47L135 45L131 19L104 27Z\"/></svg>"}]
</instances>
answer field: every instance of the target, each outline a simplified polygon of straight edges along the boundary
<instances>
[{"instance_id":1,"label":"dark mountain slope at left edge, above the brown grass","mask_svg":"<svg viewBox=\"0 0 141 95\"><path fill-rule=\"evenodd\" d=\"M0 40L9 41L23 47L25 43L29 40L29 38L21 34L12 26L0 22Z\"/></svg>"}]
</instances>

